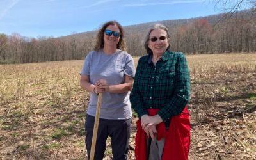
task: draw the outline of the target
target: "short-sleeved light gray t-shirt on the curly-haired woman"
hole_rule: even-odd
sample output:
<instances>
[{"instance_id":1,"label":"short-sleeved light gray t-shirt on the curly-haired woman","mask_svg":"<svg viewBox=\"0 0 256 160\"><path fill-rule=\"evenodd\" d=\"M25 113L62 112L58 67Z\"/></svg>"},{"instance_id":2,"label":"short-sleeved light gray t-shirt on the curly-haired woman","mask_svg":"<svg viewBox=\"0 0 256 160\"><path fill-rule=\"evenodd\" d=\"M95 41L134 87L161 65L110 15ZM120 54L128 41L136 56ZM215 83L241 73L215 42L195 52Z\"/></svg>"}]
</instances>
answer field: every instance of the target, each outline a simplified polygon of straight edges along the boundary
<instances>
[{"instance_id":1,"label":"short-sleeved light gray t-shirt on the curly-haired woman","mask_svg":"<svg viewBox=\"0 0 256 160\"><path fill-rule=\"evenodd\" d=\"M99 79L106 79L109 85L124 83L124 75L134 77L134 61L127 52L117 50L115 53L104 54L102 49L90 52L85 60L81 75L88 75L89 81L95 84ZM130 92L109 93L102 95L100 118L111 120L128 119L132 116ZM90 93L90 103L87 114L95 116L97 108L97 95Z\"/></svg>"}]
</instances>

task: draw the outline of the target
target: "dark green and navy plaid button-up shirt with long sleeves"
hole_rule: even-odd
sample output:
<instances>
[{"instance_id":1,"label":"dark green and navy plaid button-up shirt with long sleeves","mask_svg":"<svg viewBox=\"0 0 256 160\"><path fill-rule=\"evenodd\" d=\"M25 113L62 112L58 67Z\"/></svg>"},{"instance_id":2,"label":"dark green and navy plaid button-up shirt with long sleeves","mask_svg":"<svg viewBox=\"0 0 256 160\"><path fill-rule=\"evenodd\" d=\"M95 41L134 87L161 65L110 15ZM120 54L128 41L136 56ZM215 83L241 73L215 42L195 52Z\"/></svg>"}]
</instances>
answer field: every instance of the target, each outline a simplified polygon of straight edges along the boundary
<instances>
[{"instance_id":1,"label":"dark green and navy plaid button-up shirt with long sleeves","mask_svg":"<svg viewBox=\"0 0 256 160\"><path fill-rule=\"evenodd\" d=\"M139 118L148 114L147 109L160 109L157 114L168 123L188 103L189 86L188 64L182 52L166 51L156 66L152 55L143 56L130 94L132 108Z\"/></svg>"}]
</instances>

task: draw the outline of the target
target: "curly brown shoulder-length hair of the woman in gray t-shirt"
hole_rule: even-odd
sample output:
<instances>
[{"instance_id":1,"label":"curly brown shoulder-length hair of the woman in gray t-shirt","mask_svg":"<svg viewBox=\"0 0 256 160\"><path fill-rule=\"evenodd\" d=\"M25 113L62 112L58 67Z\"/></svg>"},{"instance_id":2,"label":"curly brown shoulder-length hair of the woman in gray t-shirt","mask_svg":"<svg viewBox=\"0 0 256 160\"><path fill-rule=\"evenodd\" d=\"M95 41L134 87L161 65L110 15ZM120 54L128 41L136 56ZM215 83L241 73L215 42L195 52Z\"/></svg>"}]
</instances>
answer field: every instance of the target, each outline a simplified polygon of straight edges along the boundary
<instances>
[{"instance_id":1,"label":"curly brown shoulder-length hair of the woman in gray t-shirt","mask_svg":"<svg viewBox=\"0 0 256 160\"><path fill-rule=\"evenodd\" d=\"M102 27L99 29L97 33L96 44L94 45L93 49L95 51L99 51L104 47L104 32L109 25L116 25L120 30L120 38L118 44L116 45L116 48L122 51L127 51L127 47L124 41L124 29L122 28L121 24L116 22L115 20L111 20L102 25Z\"/></svg>"}]
</instances>

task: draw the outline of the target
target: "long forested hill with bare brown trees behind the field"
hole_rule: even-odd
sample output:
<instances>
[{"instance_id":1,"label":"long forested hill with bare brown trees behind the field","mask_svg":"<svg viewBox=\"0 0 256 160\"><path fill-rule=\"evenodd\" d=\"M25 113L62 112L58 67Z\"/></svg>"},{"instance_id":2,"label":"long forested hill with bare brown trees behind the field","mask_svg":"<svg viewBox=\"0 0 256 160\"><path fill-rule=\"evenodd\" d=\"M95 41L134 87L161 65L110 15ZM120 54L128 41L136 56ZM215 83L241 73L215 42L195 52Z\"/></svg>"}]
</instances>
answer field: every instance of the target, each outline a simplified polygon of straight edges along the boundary
<instances>
[{"instance_id":1,"label":"long forested hill with bare brown trees behind the field","mask_svg":"<svg viewBox=\"0 0 256 160\"><path fill-rule=\"evenodd\" d=\"M132 56L145 54L141 40L150 24L125 26L125 40ZM243 10L229 15L159 21L170 29L173 51L185 54L255 52L256 13ZM0 64L83 59L93 49L96 31L59 38L28 38L0 33Z\"/></svg>"}]
</instances>

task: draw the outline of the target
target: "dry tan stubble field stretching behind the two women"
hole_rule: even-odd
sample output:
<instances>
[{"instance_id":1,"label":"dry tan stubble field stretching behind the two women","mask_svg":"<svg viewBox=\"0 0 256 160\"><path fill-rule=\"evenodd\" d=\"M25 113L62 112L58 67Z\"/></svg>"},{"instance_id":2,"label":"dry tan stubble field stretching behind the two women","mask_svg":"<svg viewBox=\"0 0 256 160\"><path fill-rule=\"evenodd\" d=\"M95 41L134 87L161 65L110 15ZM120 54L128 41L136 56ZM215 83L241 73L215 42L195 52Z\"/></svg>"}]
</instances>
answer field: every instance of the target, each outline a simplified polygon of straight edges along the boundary
<instances>
[{"instance_id":1,"label":"dry tan stubble field stretching behind the two women","mask_svg":"<svg viewBox=\"0 0 256 160\"><path fill-rule=\"evenodd\" d=\"M187 59L189 159L256 159L256 54ZM0 159L86 159L82 65L83 60L0 65ZM130 159L136 119L134 114ZM104 159L111 159L109 141Z\"/></svg>"}]
</instances>

